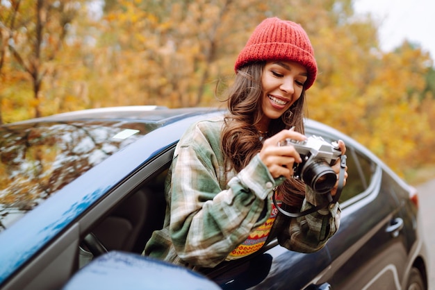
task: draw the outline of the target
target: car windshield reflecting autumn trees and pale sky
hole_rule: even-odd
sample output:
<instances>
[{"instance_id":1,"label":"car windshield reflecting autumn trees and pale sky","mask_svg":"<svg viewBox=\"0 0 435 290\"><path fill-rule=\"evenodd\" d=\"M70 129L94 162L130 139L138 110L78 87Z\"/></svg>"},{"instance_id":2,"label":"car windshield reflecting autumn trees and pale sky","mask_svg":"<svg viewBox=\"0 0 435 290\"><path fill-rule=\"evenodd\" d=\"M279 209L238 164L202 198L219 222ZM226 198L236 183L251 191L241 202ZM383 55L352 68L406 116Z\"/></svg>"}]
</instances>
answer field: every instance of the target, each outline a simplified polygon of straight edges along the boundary
<instances>
[{"instance_id":1,"label":"car windshield reflecting autumn trees and pale sky","mask_svg":"<svg viewBox=\"0 0 435 290\"><path fill-rule=\"evenodd\" d=\"M0 232L156 124L96 121L0 128Z\"/></svg>"}]
</instances>

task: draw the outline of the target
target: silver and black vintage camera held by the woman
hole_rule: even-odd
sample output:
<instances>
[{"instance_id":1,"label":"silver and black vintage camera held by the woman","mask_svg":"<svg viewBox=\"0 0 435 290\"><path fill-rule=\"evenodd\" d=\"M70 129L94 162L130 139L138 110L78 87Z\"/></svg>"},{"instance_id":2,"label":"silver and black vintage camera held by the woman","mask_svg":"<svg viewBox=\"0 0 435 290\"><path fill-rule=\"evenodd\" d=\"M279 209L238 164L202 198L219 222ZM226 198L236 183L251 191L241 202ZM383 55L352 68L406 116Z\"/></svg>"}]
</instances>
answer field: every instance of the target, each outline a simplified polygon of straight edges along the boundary
<instances>
[{"instance_id":1,"label":"silver and black vintage camera held by the woman","mask_svg":"<svg viewBox=\"0 0 435 290\"><path fill-rule=\"evenodd\" d=\"M322 137L310 136L305 141L286 139L279 146L294 146L302 162L295 163L293 178L300 179L318 194L328 193L336 184L337 176L331 169L340 158L337 142L326 142Z\"/></svg>"}]
</instances>

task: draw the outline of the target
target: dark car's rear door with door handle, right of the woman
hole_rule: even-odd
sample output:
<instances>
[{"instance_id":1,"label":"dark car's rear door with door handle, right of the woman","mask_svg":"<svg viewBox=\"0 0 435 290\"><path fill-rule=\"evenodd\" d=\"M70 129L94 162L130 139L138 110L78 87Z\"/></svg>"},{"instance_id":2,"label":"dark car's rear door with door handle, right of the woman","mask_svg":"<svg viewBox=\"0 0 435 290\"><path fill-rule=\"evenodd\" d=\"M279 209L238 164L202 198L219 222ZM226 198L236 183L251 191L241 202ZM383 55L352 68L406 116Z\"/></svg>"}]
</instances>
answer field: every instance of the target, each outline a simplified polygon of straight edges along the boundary
<instances>
[{"instance_id":1,"label":"dark car's rear door with door handle, right of the woman","mask_svg":"<svg viewBox=\"0 0 435 290\"><path fill-rule=\"evenodd\" d=\"M332 289L400 289L407 250L391 180L349 145L347 164L340 230L327 244L332 263L325 279Z\"/></svg>"}]
</instances>

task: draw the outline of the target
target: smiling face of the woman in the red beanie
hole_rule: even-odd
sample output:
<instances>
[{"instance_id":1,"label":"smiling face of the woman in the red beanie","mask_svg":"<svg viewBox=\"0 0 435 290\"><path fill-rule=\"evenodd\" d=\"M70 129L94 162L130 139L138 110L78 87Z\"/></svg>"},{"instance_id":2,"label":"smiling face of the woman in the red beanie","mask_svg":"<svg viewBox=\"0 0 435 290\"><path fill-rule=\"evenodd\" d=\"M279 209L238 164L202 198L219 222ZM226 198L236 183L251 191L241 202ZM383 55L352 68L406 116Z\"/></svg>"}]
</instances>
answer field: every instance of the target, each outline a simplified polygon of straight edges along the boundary
<instances>
[{"instance_id":1,"label":"smiling face of the woman in the red beanie","mask_svg":"<svg viewBox=\"0 0 435 290\"><path fill-rule=\"evenodd\" d=\"M261 76L263 118L259 130L268 130L271 119L278 119L302 95L307 71L298 62L266 62Z\"/></svg>"}]
</instances>

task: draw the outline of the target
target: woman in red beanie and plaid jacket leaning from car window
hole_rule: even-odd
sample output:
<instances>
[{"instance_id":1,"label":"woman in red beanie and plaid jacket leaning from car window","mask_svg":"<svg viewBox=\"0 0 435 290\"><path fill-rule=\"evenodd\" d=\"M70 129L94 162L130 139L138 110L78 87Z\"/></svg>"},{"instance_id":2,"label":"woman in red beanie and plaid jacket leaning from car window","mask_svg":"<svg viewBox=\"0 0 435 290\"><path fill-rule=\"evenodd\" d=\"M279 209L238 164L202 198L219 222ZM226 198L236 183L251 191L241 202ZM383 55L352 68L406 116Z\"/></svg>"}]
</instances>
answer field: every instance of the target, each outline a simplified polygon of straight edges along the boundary
<instances>
[{"instance_id":1,"label":"woman in red beanie and plaid jacket leaning from car window","mask_svg":"<svg viewBox=\"0 0 435 290\"><path fill-rule=\"evenodd\" d=\"M293 146L278 146L287 138L306 139L305 91L317 65L305 31L265 19L235 70L229 113L195 123L174 152L164 228L154 232L145 255L200 270L254 253L274 237L290 250L310 253L338 230L338 203L299 218L277 214L272 203L277 194L282 205L305 210L326 198L293 179L301 157ZM339 146L344 154L345 144ZM339 164L333 169L338 173Z\"/></svg>"}]
</instances>

